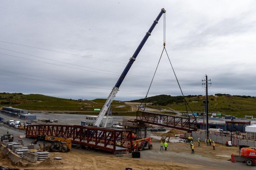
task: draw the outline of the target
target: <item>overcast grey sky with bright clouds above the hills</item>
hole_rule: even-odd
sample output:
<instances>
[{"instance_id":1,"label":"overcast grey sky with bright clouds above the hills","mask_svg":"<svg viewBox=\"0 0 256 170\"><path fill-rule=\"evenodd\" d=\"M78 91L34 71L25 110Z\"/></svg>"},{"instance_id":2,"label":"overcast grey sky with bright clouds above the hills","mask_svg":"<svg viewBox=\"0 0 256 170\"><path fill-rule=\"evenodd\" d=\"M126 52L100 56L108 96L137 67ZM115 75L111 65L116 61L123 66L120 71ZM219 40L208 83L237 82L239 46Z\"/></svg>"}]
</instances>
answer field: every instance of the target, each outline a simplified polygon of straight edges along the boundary
<instances>
[{"instance_id":1,"label":"overcast grey sky with bright clouds above the hills","mask_svg":"<svg viewBox=\"0 0 256 170\"><path fill-rule=\"evenodd\" d=\"M209 94L256 96L254 0L0 0L0 91L108 97L163 7L166 50L184 95L204 95L207 74ZM163 17L115 99L145 97L162 44ZM181 95L166 54L148 96L160 94Z\"/></svg>"}]
</instances>

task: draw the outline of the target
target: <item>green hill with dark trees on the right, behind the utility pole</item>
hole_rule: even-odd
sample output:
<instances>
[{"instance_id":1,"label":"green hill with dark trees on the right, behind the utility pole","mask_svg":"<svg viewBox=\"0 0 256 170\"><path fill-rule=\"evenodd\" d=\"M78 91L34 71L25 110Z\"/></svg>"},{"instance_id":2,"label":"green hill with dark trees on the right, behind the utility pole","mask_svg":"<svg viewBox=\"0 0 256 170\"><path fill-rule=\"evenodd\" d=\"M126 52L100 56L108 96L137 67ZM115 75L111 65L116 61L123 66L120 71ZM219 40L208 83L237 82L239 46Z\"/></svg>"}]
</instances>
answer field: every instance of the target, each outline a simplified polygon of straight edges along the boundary
<instances>
[{"instance_id":1,"label":"green hill with dark trees on the right, behind the utility pole","mask_svg":"<svg viewBox=\"0 0 256 170\"><path fill-rule=\"evenodd\" d=\"M200 112L204 109L203 100L205 100L205 96L186 96L185 98L193 112ZM142 100L133 100L132 102L142 102ZM208 96L208 100L209 112L220 112L237 117L244 117L244 115L253 115L256 117L255 97L216 94L215 96ZM176 111L186 111L182 96L159 95L147 98L147 101L152 102L153 105L157 105L158 107L170 107Z\"/></svg>"}]
</instances>

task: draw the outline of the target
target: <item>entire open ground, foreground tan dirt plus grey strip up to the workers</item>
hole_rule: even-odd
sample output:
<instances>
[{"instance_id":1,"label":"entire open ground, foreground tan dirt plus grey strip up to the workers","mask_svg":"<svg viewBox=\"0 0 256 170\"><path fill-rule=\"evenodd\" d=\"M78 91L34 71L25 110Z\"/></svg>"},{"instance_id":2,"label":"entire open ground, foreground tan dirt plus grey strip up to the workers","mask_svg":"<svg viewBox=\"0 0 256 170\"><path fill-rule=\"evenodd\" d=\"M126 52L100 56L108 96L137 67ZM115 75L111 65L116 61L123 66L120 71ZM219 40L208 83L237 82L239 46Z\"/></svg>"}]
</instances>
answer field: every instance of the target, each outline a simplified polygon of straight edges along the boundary
<instances>
[{"instance_id":1,"label":"entire open ground, foreground tan dirt plus grey strip up to the workers","mask_svg":"<svg viewBox=\"0 0 256 170\"><path fill-rule=\"evenodd\" d=\"M159 147L158 147L159 145ZM191 154L188 143L169 143L167 151L160 151L158 141L153 141L153 150L143 150L141 158L131 158L130 155L123 157L115 157L112 154L100 151L87 151L82 149L72 149L68 153L51 152L51 157L37 163L30 163L27 160L14 165L9 162L8 157L0 155L0 165L10 168L23 169L95 169L95 170L124 170L125 168L146 169L146 170L182 170L182 169L205 169L219 162L219 168L225 169L223 166L229 162L223 160L230 159L231 153L239 154L236 147L225 147L216 144L214 151L211 146L206 146L201 142L201 146L197 147L195 142L195 154ZM54 160L53 157L62 157L62 160ZM198 160L207 160L202 164ZM197 161L195 161L197 160ZM232 165L232 163L231 163ZM227 165L228 166L228 165ZM240 165L241 166L241 165ZM246 165L242 165L242 167Z\"/></svg>"}]
</instances>

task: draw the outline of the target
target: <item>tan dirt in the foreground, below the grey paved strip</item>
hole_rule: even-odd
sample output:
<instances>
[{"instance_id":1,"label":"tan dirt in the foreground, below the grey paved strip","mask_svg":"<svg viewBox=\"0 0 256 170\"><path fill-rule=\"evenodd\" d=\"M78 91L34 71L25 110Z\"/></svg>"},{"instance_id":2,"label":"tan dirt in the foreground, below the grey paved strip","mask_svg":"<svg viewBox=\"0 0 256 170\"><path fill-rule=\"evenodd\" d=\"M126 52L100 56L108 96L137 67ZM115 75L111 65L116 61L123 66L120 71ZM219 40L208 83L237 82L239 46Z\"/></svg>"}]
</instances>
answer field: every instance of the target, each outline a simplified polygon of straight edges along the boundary
<instances>
[{"instance_id":1,"label":"tan dirt in the foreground, below the grey paved strip","mask_svg":"<svg viewBox=\"0 0 256 170\"><path fill-rule=\"evenodd\" d=\"M62 157L62 160L55 160L53 157ZM112 170L112 169L147 169L147 170L182 170L188 168L186 165L167 163L162 165L158 162L145 161L141 159L131 159L130 156L115 157L114 155L101 156L96 154L70 151L68 153L52 152L51 157L37 163L30 163L26 160L16 165L9 162L8 157L0 154L0 165L9 168L26 169L73 169L73 170Z\"/></svg>"}]
</instances>

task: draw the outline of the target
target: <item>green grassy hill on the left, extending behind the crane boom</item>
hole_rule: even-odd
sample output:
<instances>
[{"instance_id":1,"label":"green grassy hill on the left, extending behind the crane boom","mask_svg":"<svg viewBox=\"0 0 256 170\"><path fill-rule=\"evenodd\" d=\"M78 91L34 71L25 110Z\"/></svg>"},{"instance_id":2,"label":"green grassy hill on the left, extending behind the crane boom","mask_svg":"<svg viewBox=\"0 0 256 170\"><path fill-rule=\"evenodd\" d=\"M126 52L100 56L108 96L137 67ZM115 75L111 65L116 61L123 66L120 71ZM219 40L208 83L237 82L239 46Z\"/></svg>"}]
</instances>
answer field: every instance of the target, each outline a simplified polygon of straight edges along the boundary
<instances>
[{"instance_id":1,"label":"green grassy hill on the left, extending behind the crane boom","mask_svg":"<svg viewBox=\"0 0 256 170\"><path fill-rule=\"evenodd\" d=\"M106 99L94 99L94 100L72 100L62 99L51 96L44 96L39 94L24 95L22 93L0 93L0 107L12 106L15 108L23 108L27 110L35 111L85 111L95 112L94 108L101 108ZM129 106L121 101L113 101L111 105L112 112L127 112L130 111Z\"/></svg>"}]
</instances>

